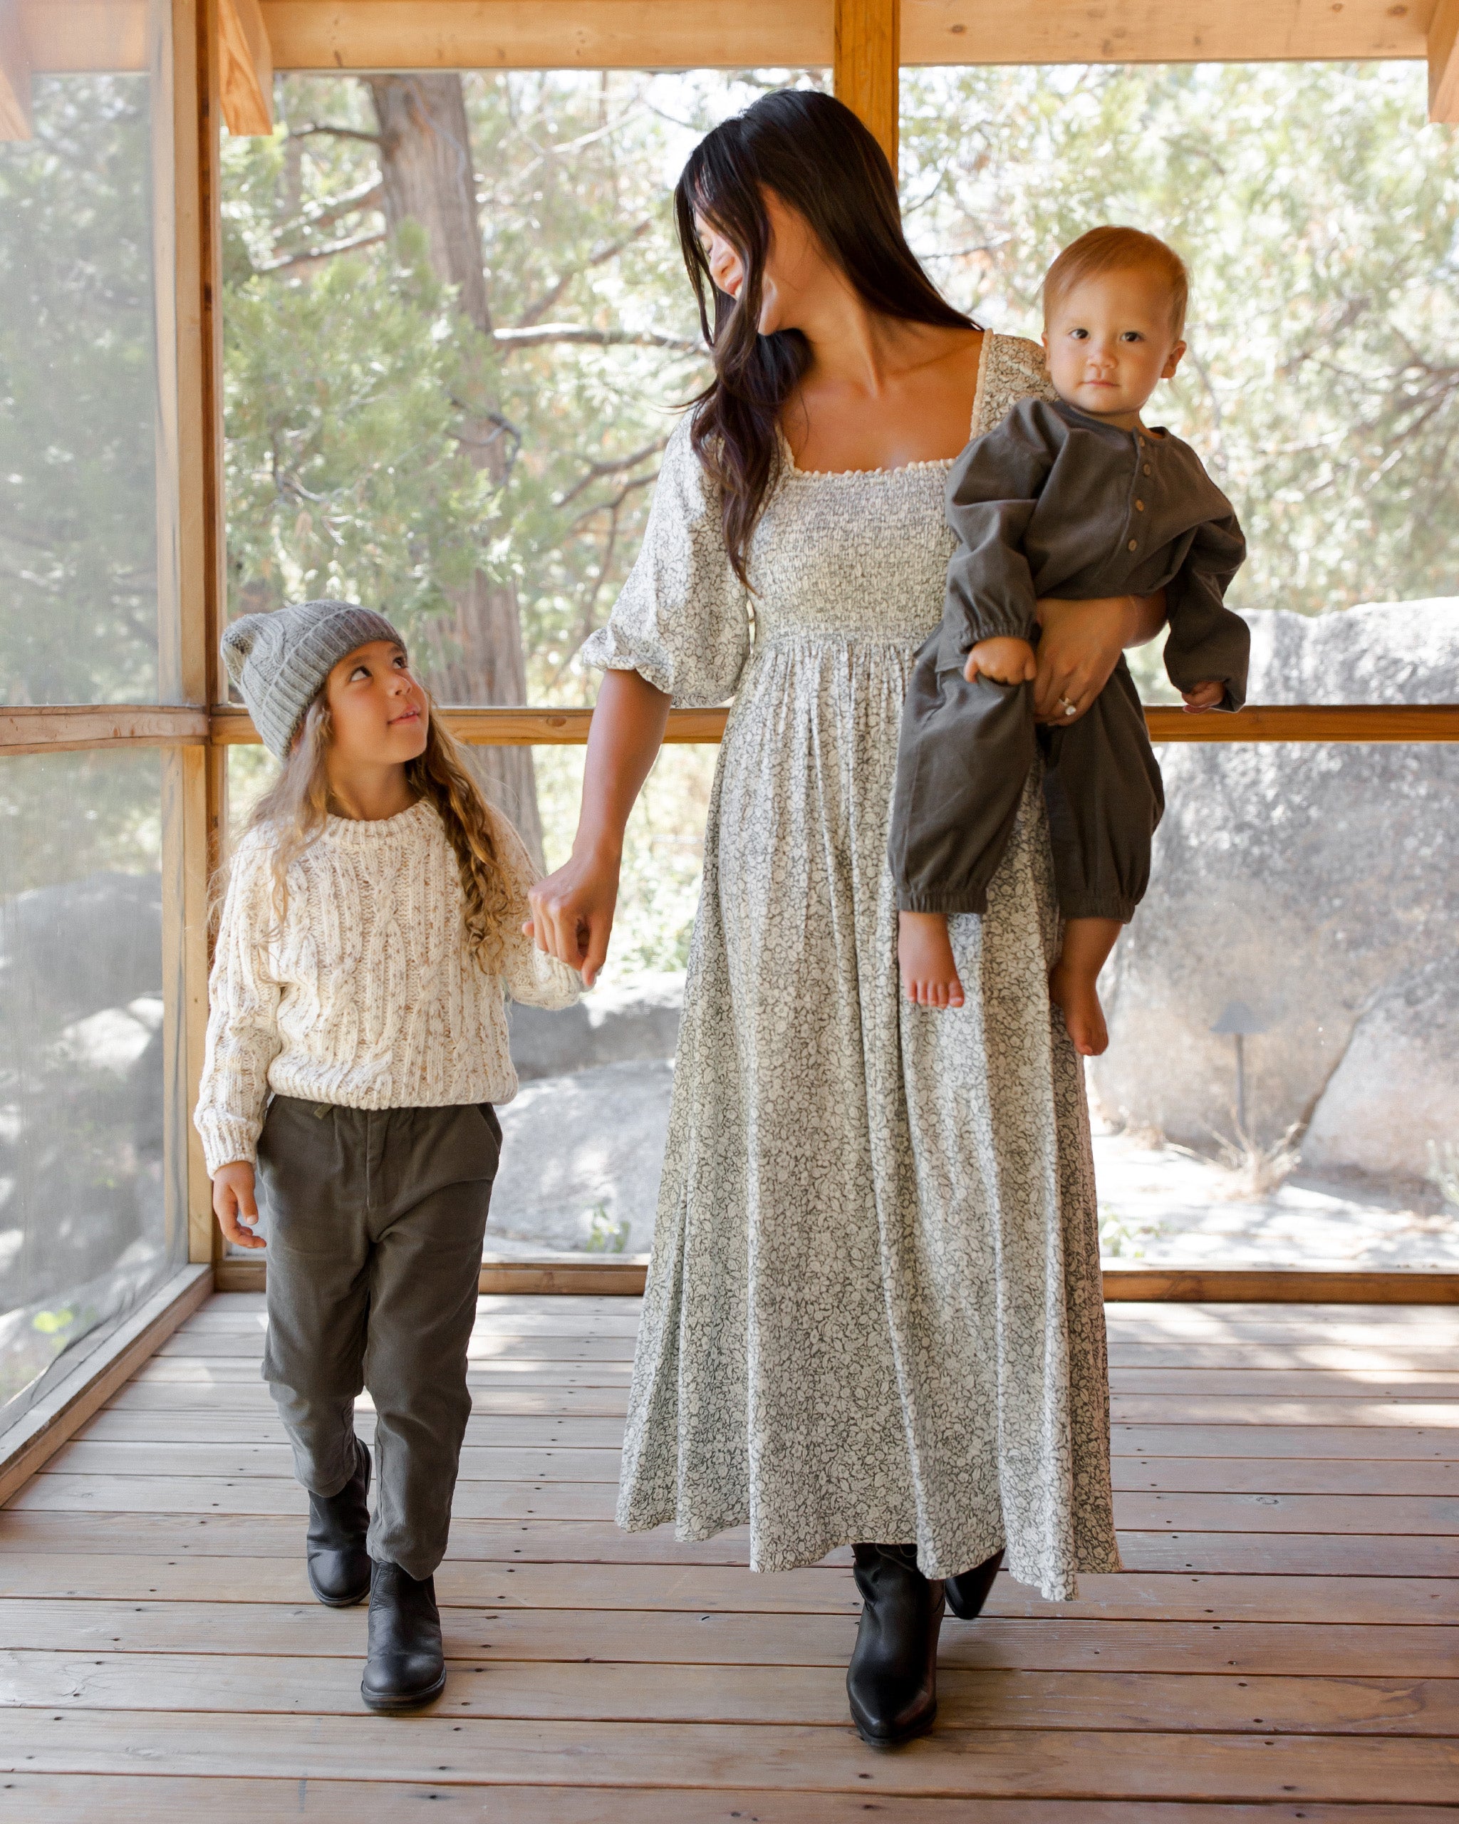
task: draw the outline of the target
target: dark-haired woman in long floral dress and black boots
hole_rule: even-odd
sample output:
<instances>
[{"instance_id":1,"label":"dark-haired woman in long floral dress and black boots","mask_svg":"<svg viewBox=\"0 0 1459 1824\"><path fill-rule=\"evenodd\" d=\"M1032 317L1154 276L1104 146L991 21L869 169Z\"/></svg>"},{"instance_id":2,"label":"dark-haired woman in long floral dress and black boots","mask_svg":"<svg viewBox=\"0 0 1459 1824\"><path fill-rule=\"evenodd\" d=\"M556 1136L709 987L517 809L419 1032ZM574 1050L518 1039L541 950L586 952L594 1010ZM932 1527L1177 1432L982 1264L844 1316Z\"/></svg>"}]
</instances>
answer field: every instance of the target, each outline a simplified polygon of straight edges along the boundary
<instances>
[{"instance_id":1,"label":"dark-haired woman in long floral dress and black boots","mask_svg":"<svg viewBox=\"0 0 1459 1824\"><path fill-rule=\"evenodd\" d=\"M1118 1569L1089 1120L1049 1009L1036 784L987 916L952 919L959 1012L901 1000L886 866L903 695L952 553L943 482L1043 367L932 288L886 159L830 97L768 95L717 128L675 204L715 379L584 649L605 677L578 835L533 917L591 981L669 702L733 697L618 1523L748 1523L759 1570L854 1545L852 1715L888 1744L932 1724L945 1580L976 1614L1005 1547L1050 1598ZM1162 618L1081 604L1076 629L1058 609L1045 715L1083 711Z\"/></svg>"}]
</instances>

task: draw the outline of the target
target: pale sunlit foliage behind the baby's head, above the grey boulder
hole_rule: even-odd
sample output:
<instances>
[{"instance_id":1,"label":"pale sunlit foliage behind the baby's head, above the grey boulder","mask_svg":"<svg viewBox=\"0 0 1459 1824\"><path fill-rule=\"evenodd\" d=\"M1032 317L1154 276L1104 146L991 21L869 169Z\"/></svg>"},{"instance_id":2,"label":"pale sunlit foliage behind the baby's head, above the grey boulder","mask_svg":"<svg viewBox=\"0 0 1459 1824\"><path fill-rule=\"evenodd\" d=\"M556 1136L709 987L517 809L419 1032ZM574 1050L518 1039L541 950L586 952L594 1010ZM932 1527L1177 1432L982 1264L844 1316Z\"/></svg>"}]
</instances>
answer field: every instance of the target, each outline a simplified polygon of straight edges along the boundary
<instances>
[{"instance_id":1,"label":"pale sunlit foliage behind the baby's head, above the grey boulder","mask_svg":"<svg viewBox=\"0 0 1459 1824\"><path fill-rule=\"evenodd\" d=\"M1087 228L1160 233L1193 279L1156 394L1251 542L1233 604L1306 613L1459 587L1459 161L1421 66L908 73L908 230L996 328Z\"/></svg>"}]
</instances>

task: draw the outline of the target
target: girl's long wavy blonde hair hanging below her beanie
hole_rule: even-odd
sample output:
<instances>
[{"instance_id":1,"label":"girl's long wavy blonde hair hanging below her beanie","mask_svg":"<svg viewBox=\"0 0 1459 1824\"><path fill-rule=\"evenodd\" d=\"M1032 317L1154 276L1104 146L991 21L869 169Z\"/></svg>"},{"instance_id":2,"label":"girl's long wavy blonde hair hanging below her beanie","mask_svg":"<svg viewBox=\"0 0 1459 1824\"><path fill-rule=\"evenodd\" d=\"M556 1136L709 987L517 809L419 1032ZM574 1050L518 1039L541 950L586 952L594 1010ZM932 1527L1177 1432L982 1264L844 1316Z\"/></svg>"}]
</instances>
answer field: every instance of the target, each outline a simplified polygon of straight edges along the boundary
<instances>
[{"instance_id":1,"label":"girl's long wavy blonde hair hanging below her beanie","mask_svg":"<svg viewBox=\"0 0 1459 1824\"><path fill-rule=\"evenodd\" d=\"M405 768L405 782L416 799L436 808L445 835L456 850L461 876L461 912L467 947L491 974L500 974L502 932L511 919L527 917L525 896L512 890L502 866L496 814L465 768L461 748L436 715L427 693L425 751ZM268 828L274 835L274 914L288 908L288 870L325 828L330 815L330 784L325 755L334 739L330 706L321 689L305 711L299 737L274 786L254 806L250 830Z\"/></svg>"}]
</instances>

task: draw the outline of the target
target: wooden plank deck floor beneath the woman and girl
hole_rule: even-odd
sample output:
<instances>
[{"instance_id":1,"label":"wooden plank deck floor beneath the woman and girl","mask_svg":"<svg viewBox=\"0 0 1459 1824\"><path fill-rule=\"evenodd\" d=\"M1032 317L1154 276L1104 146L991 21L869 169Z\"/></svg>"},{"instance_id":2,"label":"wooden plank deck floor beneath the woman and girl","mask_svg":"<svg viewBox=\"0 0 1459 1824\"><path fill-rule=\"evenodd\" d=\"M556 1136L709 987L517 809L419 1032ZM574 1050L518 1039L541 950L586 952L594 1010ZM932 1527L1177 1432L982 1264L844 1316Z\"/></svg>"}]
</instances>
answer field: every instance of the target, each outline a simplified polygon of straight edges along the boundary
<instances>
[{"instance_id":1,"label":"wooden plank deck floor beneath the woman and girl","mask_svg":"<svg viewBox=\"0 0 1459 1824\"><path fill-rule=\"evenodd\" d=\"M0 1514L0 1815L1459 1817L1459 1311L1111 1306L1129 1569L1067 1605L999 1578L945 1625L937 1733L892 1755L846 1718L844 1563L615 1530L635 1322L481 1301L452 1676L376 1718L365 1611L308 1598L263 1301L212 1299Z\"/></svg>"}]
</instances>

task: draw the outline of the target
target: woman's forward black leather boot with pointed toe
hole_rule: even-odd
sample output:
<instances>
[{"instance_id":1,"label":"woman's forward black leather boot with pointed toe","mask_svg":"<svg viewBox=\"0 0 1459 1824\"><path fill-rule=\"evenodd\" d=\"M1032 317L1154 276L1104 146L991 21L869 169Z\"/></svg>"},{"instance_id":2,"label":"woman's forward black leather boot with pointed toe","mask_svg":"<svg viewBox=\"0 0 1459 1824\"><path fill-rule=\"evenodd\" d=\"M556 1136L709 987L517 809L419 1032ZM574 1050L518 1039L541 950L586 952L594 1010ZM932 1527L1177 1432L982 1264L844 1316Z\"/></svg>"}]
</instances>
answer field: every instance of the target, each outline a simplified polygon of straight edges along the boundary
<instances>
[{"instance_id":1,"label":"woman's forward black leather boot with pointed toe","mask_svg":"<svg viewBox=\"0 0 1459 1824\"><path fill-rule=\"evenodd\" d=\"M916 1545L857 1545L861 1627L846 1669L852 1722L863 1742L894 1747L937 1715L937 1631L943 1585L917 1570Z\"/></svg>"}]
</instances>

